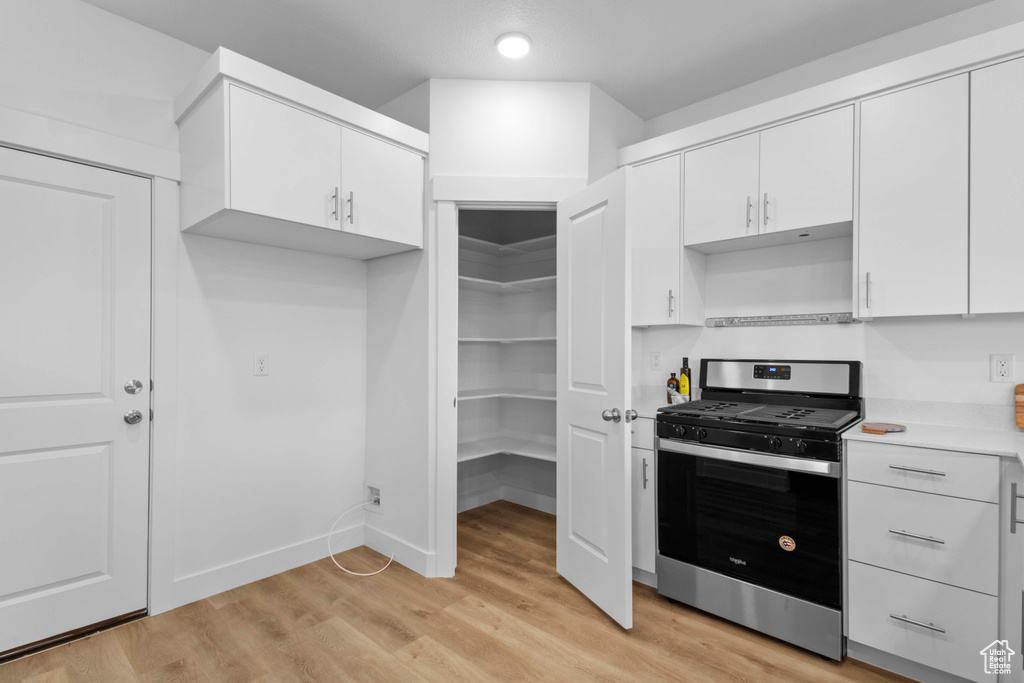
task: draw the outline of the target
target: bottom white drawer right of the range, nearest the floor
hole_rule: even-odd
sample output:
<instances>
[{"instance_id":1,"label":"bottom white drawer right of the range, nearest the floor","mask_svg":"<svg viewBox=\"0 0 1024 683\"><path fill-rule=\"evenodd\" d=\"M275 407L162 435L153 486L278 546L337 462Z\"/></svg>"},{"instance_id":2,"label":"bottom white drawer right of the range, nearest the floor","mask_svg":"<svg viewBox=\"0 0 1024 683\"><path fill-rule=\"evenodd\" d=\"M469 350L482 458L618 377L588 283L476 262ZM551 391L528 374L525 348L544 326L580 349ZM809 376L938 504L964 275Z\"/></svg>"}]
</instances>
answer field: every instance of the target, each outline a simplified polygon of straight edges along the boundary
<instances>
[{"instance_id":1,"label":"bottom white drawer right of the range, nearest the floor","mask_svg":"<svg viewBox=\"0 0 1024 683\"><path fill-rule=\"evenodd\" d=\"M996 639L995 598L859 562L849 563L849 574L851 640L970 680L991 680L979 652Z\"/></svg>"}]
</instances>

